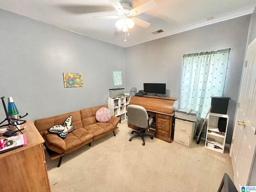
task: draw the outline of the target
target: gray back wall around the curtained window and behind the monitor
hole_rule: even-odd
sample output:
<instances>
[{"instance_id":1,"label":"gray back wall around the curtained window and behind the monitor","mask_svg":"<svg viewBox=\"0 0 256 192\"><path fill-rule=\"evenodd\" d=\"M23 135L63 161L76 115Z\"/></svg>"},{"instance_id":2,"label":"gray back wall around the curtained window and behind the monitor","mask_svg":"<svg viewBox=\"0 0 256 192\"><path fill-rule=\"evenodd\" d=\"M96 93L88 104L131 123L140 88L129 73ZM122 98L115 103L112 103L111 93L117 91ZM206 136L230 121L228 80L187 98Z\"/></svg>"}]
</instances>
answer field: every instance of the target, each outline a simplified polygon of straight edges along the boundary
<instances>
[{"instance_id":1,"label":"gray back wall around the curtained window and behind the monitor","mask_svg":"<svg viewBox=\"0 0 256 192\"><path fill-rule=\"evenodd\" d=\"M183 54L231 48L224 91L231 97L226 138L230 144L249 22L246 15L126 48L126 89L143 89L145 82L166 83L169 96L180 98Z\"/></svg>"}]
</instances>

